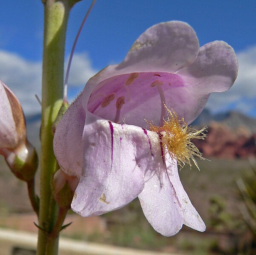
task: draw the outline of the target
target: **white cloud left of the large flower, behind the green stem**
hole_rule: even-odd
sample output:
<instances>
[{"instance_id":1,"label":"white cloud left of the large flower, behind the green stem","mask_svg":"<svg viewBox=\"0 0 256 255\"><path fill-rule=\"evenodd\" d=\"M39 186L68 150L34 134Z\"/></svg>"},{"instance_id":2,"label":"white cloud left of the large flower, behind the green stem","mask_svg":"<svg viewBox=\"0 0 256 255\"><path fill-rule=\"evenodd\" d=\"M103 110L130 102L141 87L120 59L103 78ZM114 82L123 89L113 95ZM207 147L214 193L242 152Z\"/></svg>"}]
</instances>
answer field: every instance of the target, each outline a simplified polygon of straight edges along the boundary
<instances>
[{"instance_id":1,"label":"white cloud left of the large flower, behind the green stem","mask_svg":"<svg viewBox=\"0 0 256 255\"><path fill-rule=\"evenodd\" d=\"M69 74L69 86L84 85L95 73L87 54L75 54ZM0 51L0 79L18 97L26 115L40 112L40 104L35 98L35 94L41 97L40 62Z\"/></svg>"}]
</instances>

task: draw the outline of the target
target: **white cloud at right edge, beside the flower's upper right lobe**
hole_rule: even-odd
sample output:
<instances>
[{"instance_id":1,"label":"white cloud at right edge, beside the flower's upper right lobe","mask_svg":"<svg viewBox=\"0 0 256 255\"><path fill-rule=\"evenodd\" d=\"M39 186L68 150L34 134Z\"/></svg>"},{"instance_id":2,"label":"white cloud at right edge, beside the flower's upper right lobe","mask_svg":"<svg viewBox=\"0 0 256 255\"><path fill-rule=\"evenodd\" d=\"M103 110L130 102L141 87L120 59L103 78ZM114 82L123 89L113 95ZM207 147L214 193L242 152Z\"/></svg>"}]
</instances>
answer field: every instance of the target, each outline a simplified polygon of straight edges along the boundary
<instances>
[{"instance_id":1,"label":"white cloud at right edge, beside the flower's upper right lobe","mask_svg":"<svg viewBox=\"0 0 256 255\"><path fill-rule=\"evenodd\" d=\"M256 102L256 46L237 54L239 71L237 79L227 92L213 93L207 107L213 112L223 111L230 107L247 113Z\"/></svg>"}]
</instances>

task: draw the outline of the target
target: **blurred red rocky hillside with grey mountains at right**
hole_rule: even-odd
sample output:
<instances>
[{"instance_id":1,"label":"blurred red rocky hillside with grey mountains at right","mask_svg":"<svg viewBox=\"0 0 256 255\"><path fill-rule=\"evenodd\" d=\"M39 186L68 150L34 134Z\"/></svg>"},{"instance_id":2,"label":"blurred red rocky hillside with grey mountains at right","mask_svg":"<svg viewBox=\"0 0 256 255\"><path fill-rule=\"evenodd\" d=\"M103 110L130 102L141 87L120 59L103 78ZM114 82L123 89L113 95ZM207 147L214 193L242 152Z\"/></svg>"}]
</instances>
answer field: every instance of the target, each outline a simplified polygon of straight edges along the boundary
<instances>
[{"instance_id":1,"label":"blurred red rocky hillside with grey mountains at right","mask_svg":"<svg viewBox=\"0 0 256 255\"><path fill-rule=\"evenodd\" d=\"M256 157L256 119L238 112L210 115L204 110L192 125L207 126L207 138L193 141L204 157Z\"/></svg>"}]
</instances>

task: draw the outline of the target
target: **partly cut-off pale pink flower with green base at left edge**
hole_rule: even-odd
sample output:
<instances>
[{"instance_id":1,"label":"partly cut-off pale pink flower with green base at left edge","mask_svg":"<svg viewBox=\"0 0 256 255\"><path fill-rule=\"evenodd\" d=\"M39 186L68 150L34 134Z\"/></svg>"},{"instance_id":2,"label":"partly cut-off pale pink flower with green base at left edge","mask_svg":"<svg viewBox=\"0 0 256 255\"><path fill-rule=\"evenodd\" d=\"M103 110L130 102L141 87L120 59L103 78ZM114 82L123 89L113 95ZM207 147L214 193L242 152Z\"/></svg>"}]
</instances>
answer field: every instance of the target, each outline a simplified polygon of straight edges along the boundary
<instances>
[{"instance_id":1,"label":"partly cut-off pale pink flower with green base at left edge","mask_svg":"<svg viewBox=\"0 0 256 255\"><path fill-rule=\"evenodd\" d=\"M26 123L20 102L0 80L0 154L17 178L29 181L35 176L38 159L26 138Z\"/></svg>"}]
</instances>

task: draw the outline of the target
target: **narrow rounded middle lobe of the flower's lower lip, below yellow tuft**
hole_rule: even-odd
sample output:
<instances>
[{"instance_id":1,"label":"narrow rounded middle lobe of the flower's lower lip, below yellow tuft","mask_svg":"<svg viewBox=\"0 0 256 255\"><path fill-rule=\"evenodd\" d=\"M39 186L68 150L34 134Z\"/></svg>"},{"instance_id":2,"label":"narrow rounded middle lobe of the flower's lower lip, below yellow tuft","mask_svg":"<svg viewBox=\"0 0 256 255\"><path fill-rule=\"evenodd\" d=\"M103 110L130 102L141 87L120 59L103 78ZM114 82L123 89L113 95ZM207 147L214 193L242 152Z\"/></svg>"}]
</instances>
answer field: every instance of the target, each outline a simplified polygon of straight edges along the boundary
<instances>
[{"instance_id":1,"label":"narrow rounded middle lobe of the flower's lower lip, below yellow tuft","mask_svg":"<svg viewBox=\"0 0 256 255\"><path fill-rule=\"evenodd\" d=\"M138 160L141 169L145 169L145 186L138 198L145 217L155 231L171 236L181 229L183 218L177 209L176 195L167 175L159 136L150 131L148 135L152 141L152 157L151 160Z\"/></svg>"}]
</instances>

